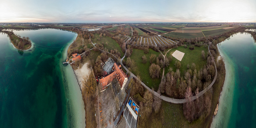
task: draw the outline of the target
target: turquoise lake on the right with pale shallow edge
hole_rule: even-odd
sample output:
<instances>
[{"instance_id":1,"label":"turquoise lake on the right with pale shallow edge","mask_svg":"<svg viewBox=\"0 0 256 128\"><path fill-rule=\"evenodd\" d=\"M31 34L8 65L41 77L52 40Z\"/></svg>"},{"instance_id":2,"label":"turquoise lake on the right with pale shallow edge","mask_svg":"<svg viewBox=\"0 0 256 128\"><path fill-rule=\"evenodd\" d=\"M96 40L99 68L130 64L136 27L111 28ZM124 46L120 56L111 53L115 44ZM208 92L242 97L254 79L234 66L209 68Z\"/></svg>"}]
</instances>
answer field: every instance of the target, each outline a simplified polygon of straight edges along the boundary
<instances>
[{"instance_id":1,"label":"turquoise lake on the right with pale shallow edge","mask_svg":"<svg viewBox=\"0 0 256 128\"><path fill-rule=\"evenodd\" d=\"M256 128L256 43L236 33L218 44L225 58L226 78L213 128Z\"/></svg>"}]
</instances>

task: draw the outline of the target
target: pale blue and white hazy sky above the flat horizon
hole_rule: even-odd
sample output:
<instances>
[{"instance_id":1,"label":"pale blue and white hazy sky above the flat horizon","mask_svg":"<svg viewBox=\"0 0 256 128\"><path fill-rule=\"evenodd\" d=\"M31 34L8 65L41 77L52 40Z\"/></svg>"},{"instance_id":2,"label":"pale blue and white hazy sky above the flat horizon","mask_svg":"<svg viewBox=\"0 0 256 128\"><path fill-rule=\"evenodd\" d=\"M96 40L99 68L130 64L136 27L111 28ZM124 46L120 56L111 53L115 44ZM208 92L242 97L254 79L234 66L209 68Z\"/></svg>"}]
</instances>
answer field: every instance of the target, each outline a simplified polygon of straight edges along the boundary
<instances>
[{"instance_id":1,"label":"pale blue and white hazy sky above the flat horizon","mask_svg":"<svg viewBox=\"0 0 256 128\"><path fill-rule=\"evenodd\" d=\"M1 0L0 23L256 22L256 0Z\"/></svg>"}]
</instances>

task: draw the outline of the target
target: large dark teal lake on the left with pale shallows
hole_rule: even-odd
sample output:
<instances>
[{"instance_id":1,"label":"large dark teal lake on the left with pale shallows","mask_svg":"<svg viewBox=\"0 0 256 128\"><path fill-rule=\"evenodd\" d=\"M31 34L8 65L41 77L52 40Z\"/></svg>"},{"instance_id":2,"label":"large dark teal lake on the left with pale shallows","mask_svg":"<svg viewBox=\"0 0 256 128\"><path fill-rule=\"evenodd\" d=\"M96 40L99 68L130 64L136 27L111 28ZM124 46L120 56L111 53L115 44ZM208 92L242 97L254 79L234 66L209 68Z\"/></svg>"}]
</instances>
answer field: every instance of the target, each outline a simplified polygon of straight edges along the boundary
<instances>
[{"instance_id":1,"label":"large dark teal lake on the left with pale shallows","mask_svg":"<svg viewBox=\"0 0 256 128\"><path fill-rule=\"evenodd\" d=\"M62 64L77 34L57 29L14 33L30 37L35 47L18 51L7 35L0 33L0 128L85 125L82 94L74 72Z\"/></svg>"}]
</instances>

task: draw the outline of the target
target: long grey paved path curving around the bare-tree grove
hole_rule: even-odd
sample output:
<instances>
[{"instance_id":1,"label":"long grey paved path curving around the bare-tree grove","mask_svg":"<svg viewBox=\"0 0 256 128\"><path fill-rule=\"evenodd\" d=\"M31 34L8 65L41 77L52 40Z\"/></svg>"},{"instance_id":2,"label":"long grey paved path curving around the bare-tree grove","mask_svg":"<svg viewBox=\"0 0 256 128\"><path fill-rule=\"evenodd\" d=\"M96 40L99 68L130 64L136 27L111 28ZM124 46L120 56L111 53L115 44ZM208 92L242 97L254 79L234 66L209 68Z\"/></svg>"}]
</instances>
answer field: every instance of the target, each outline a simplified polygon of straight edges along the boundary
<instances>
[{"instance_id":1,"label":"long grey paved path curving around the bare-tree grove","mask_svg":"<svg viewBox=\"0 0 256 128\"><path fill-rule=\"evenodd\" d=\"M89 35L89 36L90 36L90 35ZM90 36L90 38L91 38L91 36ZM214 39L214 40L215 40L215 39ZM213 41L214 41L214 40L213 40ZM91 43L93 44L93 42L91 42ZM211 44L211 43L210 43L210 44ZM209 46L208 46L208 51L209 51L209 52L210 52L210 44L209 44ZM94 44L93 44L93 46L95 47ZM97 47L95 47L95 48L97 48ZM98 49L99 49L99 48L98 48ZM126 49L126 47L125 47L125 49ZM100 50L100 51L103 51L103 50L101 50L101 49L99 49L99 50ZM103 52L106 52L106 51L103 51ZM107 53L109 53L109 52L107 52ZM126 51L125 51L125 53L126 53ZM109 53L109 54L112 55L112 56L114 56L112 53ZM162 54L162 55L163 55L163 54ZM210 55L211 55L211 52L210 52ZM114 56L114 57L117 59L116 56ZM211 57L212 57L212 55L211 55ZM124 57L123 57L123 58L124 58ZM123 59L123 58L122 58L122 59ZM122 59L120 60L120 64L124 67L124 69L125 69L127 72L130 72L130 71L128 70L128 68L124 66L124 64L123 64L123 62L122 62ZM118 60L118 59L117 59L117 60ZM197 99L198 97L202 96L202 95L203 95L204 93L206 93L206 91L209 90L209 89L212 87L212 85L215 83L215 81L216 81L216 79L217 79L217 67L216 67L215 61L213 61L213 62L214 62L214 67L215 67L215 76L214 76L214 79L213 79L212 83L211 83L210 85L208 85L208 87L205 88L203 91L199 92L196 96L190 97L191 101L193 101L193 100ZM132 76L132 77L134 77L135 79L139 80L136 75L134 75L132 72L130 72L130 73L131 73L130 76ZM150 89L149 87L147 87L147 85L144 84L142 81L140 81L140 83L143 85L144 88L148 89L148 90L149 90L150 92L152 92L155 96L159 97L159 98L162 99L162 100L165 100L165 101L167 101L167 102L174 103L174 104L182 104L182 103L186 103L186 102L187 102L187 99L173 99L173 98L170 98L170 97L162 96L162 95L160 95L159 93L157 93L157 92L155 92L155 91L152 91L152 89Z\"/></svg>"}]
</instances>

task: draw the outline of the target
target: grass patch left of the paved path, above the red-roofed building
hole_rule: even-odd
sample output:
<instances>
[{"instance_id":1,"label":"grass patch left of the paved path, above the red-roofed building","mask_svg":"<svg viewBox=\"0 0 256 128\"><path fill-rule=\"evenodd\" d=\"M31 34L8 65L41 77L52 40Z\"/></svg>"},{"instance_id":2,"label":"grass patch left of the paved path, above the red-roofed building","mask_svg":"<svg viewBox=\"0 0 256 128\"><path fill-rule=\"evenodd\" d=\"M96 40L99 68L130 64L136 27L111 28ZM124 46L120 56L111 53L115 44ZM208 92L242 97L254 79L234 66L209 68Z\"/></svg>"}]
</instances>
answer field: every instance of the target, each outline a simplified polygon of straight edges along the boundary
<instances>
[{"instance_id":1,"label":"grass patch left of the paved path, above the red-roofed building","mask_svg":"<svg viewBox=\"0 0 256 128\"><path fill-rule=\"evenodd\" d=\"M114 50L117 49L117 51L119 51L121 53L121 58L124 56L124 53L122 51L122 49L120 48L119 44L113 40L112 38L108 37L108 36L102 36L102 38L98 41L97 38L99 38L98 34L94 34L94 39L92 40L93 43L100 43L103 44L105 48L108 49L108 51L110 52L110 50ZM108 43L108 45L106 45L105 43Z\"/></svg>"}]
</instances>

